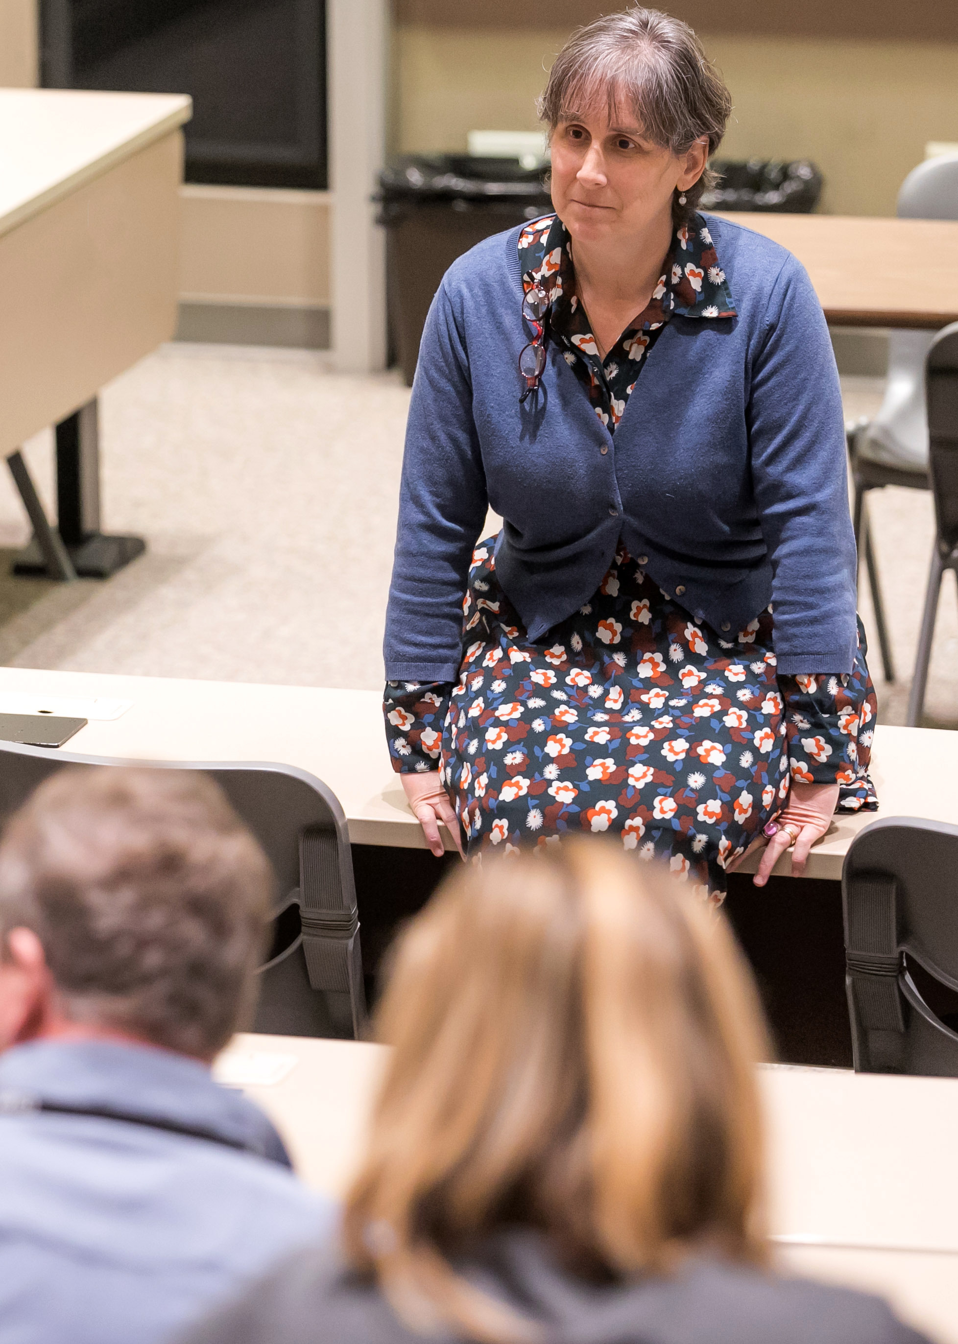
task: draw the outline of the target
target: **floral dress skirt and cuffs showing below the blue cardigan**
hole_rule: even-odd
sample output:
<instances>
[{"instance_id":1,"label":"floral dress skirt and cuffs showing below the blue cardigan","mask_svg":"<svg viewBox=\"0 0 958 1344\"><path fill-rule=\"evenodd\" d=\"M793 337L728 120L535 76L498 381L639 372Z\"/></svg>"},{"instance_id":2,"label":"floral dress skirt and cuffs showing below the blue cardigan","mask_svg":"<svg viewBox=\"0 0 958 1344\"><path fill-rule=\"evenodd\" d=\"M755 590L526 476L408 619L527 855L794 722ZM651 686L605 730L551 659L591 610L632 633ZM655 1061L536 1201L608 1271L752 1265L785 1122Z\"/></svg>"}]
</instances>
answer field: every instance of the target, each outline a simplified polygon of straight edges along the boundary
<instances>
[{"instance_id":1,"label":"floral dress skirt and cuffs showing below the blue cardigan","mask_svg":"<svg viewBox=\"0 0 958 1344\"><path fill-rule=\"evenodd\" d=\"M767 613L750 622L746 645L719 649L711 628L691 621L623 550L586 614L558 626L555 642L543 649L525 638L498 589L492 546L484 548L473 591L478 579L498 607L477 632L484 657L472 660L454 688L398 687L387 695L390 711L403 710L414 720L396 734L402 746L392 743L400 769L417 767L406 753L427 750L423 738L434 747L429 734L445 723L441 759L451 766L450 793L470 852L504 841L544 844L582 829L615 833L626 848L641 839L669 862L681 859L688 870L679 868L719 899L724 860L781 810L790 778L838 780L845 808L875 805L869 743L860 732L856 759L851 731L863 719L871 723L875 712L861 655L852 676L836 683L836 696L829 677L816 679L810 694L795 677L779 677L765 659L773 629ZM509 660L511 648L531 657ZM501 656L486 664L485 653L494 649ZM668 657L670 649L680 657ZM486 669L477 672L477 664ZM529 722L523 710L537 699L539 683L550 680L546 673L566 689L554 689L551 708ZM493 689L493 677L501 689ZM606 707L609 702L618 708ZM450 703L464 704L455 719ZM470 716L476 704L480 712ZM813 727L798 728L790 718ZM477 728L485 734L478 751Z\"/></svg>"}]
</instances>

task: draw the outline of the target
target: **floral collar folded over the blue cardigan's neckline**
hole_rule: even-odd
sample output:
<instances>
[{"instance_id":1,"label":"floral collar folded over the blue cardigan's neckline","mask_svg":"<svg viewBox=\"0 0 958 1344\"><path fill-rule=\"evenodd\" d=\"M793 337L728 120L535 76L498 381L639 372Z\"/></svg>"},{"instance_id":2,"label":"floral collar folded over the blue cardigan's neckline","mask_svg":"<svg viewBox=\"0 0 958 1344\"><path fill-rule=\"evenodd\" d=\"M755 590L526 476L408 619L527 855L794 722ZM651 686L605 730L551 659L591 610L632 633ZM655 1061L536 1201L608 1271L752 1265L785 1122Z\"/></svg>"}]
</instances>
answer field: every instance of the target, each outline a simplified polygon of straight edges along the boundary
<instances>
[{"instance_id":1,"label":"floral collar folded over the blue cardigan's neckline","mask_svg":"<svg viewBox=\"0 0 958 1344\"><path fill-rule=\"evenodd\" d=\"M519 265L523 288L544 289L552 306L563 294L571 294L575 285L571 238L558 215L543 215L523 228L519 235ZM649 331L673 316L736 316L715 242L704 218L697 214L676 228L664 274L632 327Z\"/></svg>"}]
</instances>

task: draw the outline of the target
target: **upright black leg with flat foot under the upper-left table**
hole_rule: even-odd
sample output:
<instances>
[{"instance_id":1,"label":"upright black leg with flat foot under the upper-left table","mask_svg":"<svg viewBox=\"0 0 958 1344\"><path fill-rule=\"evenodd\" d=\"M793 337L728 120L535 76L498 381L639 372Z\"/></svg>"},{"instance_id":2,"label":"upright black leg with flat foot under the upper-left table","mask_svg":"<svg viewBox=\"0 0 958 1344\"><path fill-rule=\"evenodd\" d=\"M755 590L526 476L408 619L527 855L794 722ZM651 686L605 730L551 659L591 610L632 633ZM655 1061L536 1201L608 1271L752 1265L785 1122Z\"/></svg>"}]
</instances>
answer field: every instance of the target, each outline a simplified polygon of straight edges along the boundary
<instances>
[{"instance_id":1,"label":"upright black leg with flat foot under the upper-left table","mask_svg":"<svg viewBox=\"0 0 958 1344\"><path fill-rule=\"evenodd\" d=\"M106 579L146 550L140 536L99 531L99 418L95 399L56 426L56 512L60 538L82 578ZM48 573L35 539L15 562L13 573Z\"/></svg>"}]
</instances>

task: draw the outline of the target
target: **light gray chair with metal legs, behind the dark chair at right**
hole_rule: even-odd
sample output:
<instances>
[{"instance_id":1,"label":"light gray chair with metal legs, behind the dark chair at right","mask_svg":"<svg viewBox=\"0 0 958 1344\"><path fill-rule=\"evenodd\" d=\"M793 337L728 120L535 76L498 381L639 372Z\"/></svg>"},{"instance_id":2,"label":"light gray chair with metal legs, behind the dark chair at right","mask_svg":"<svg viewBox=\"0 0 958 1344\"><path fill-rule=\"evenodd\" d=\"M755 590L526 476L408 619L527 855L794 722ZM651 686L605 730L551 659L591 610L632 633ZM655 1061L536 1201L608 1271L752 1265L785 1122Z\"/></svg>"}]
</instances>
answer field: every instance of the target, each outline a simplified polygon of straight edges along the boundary
<instances>
[{"instance_id":1,"label":"light gray chair with metal legs, behind the dark chair at right","mask_svg":"<svg viewBox=\"0 0 958 1344\"><path fill-rule=\"evenodd\" d=\"M910 172L898 194L898 215L900 219L958 219L958 156L928 159ZM881 277L876 276L873 282L880 285ZM855 539L859 555L864 554L865 559L887 681L895 680L895 667L865 496L868 491L885 485L928 489L924 360L932 339L932 332L892 331L888 337L888 374L881 409L873 421L848 426Z\"/></svg>"}]
</instances>

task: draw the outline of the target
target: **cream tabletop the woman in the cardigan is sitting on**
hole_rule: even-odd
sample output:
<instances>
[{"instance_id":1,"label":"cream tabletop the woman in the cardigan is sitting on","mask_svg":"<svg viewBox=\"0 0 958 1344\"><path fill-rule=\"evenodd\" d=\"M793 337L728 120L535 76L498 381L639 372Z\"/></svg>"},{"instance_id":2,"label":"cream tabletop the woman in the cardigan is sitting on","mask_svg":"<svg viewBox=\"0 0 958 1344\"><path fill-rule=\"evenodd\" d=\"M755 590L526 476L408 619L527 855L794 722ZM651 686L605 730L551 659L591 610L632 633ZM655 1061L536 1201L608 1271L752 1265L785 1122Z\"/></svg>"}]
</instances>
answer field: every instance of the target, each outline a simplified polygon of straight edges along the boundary
<instances>
[{"instance_id":1,"label":"cream tabletop the woman in the cardigan is sitting on","mask_svg":"<svg viewBox=\"0 0 958 1344\"><path fill-rule=\"evenodd\" d=\"M28 700L17 704L11 695ZM82 703L64 706L58 703L62 698ZM95 698L132 703L117 719L94 719ZM296 765L336 793L353 844L426 848L390 766L376 691L0 668L0 712L36 710L40 702L54 712L90 719L64 751L134 761ZM958 734L879 724L873 751L880 816L958 823ZM806 876L841 878L853 836L873 817L837 817L812 851ZM446 847L453 848L449 839ZM754 871L756 862L744 871ZM774 871L790 874L789 853Z\"/></svg>"}]
</instances>

